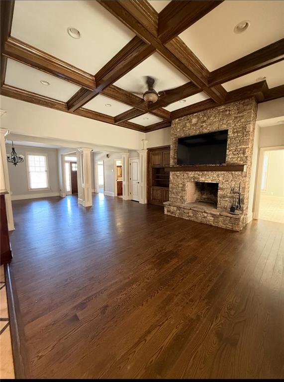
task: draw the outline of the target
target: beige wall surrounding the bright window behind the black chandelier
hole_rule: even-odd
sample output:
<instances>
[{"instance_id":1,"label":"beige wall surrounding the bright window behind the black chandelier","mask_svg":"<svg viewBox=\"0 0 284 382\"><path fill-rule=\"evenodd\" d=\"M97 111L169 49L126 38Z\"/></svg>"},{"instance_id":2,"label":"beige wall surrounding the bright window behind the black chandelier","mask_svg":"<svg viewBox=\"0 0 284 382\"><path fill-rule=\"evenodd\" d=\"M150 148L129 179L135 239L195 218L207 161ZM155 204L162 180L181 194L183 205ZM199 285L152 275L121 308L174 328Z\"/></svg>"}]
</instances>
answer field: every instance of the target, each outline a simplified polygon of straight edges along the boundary
<instances>
[{"instance_id":1,"label":"beige wall surrounding the bright window behind the black chandelier","mask_svg":"<svg viewBox=\"0 0 284 382\"><path fill-rule=\"evenodd\" d=\"M6 152L10 153L12 146L6 145ZM59 195L59 174L58 174L58 154L57 149L48 149L31 146L15 146L17 154L24 155L24 162L17 166L8 163L8 172L12 199L26 198L42 194L46 196ZM47 155L49 186L50 190L28 190L27 178L27 153Z\"/></svg>"}]
</instances>

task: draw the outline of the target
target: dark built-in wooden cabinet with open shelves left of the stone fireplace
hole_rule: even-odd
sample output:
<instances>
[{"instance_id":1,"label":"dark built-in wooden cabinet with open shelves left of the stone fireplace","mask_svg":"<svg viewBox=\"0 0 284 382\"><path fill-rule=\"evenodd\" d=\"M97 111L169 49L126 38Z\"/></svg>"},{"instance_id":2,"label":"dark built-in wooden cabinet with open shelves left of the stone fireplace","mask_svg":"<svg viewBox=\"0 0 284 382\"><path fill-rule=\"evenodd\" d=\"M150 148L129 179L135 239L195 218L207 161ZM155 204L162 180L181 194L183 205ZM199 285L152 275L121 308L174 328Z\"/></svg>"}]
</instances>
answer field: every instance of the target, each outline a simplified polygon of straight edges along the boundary
<instances>
[{"instance_id":1,"label":"dark built-in wooden cabinet with open shelves left of the stone fireplace","mask_svg":"<svg viewBox=\"0 0 284 382\"><path fill-rule=\"evenodd\" d=\"M148 203L163 205L169 200L170 146L157 147L148 151Z\"/></svg>"}]
</instances>

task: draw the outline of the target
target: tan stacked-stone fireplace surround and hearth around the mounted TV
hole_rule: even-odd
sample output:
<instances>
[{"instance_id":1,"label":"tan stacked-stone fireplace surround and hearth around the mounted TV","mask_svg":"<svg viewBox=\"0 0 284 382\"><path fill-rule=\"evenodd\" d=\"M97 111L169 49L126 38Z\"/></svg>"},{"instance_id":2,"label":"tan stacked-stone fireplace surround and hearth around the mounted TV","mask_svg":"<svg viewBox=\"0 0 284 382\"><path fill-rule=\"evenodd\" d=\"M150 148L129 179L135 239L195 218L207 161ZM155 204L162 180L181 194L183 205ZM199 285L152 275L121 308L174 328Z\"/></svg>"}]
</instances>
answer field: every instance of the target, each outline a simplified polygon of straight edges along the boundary
<instances>
[{"instance_id":1,"label":"tan stacked-stone fireplace surround and hearth around the mounted TV","mask_svg":"<svg viewBox=\"0 0 284 382\"><path fill-rule=\"evenodd\" d=\"M246 172L171 172L170 197L165 213L201 223L240 231L247 223L249 184L257 103L254 98L232 102L213 109L191 114L172 122L171 166L177 166L178 138L189 135L228 130L226 165L246 165ZM204 208L187 204L189 182L218 183L217 208ZM241 184L242 213L228 213L232 204L233 187Z\"/></svg>"}]
</instances>

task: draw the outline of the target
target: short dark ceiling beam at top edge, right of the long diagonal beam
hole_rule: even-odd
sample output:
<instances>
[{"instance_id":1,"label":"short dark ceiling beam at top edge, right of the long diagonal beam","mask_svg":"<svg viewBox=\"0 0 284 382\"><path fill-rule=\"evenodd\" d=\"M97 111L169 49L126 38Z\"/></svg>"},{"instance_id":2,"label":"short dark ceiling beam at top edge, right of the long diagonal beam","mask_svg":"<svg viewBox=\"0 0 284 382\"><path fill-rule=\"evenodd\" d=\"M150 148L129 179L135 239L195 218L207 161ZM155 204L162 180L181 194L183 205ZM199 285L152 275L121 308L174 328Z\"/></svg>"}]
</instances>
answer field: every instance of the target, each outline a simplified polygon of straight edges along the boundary
<instances>
[{"instance_id":1,"label":"short dark ceiling beam at top edge, right of the long diagonal beam","mask_svg":"<svg viewBox=\"0 0 284 382\"><path fill-rule=\"evenodd\" d=\"M172 0L159 13L159 39L163 43L169 42L221 2L215 0Z\"/></svg>"}]
</instances>

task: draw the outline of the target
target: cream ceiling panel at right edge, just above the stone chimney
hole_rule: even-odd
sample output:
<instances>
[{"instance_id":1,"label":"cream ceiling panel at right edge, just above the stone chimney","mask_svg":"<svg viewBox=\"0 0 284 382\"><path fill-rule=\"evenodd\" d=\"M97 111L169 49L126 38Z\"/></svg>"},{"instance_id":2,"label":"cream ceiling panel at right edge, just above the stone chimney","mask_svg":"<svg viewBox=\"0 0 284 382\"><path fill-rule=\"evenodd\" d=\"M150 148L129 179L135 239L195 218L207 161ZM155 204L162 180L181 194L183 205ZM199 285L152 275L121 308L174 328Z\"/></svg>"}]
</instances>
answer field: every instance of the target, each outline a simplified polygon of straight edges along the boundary
<instances>
[{"instance_id":1,"label":"cream ceiling panel at right edge, just above the stone chimney","mask_svg":"<svg viewBox=\"0 0 284 382\"><path fill-rule=\"evenodd\" d=\"M266 77L266 82L270 89L275 88L276 86L284 85L284 61L267 66L266 68L249 73L243 77L236 78L235 80L226 82L222 85L227 92L230 92L231 90L254 84L257 82L257 79L261 81L263 77Z\"/></svg>"}]
</instances>

